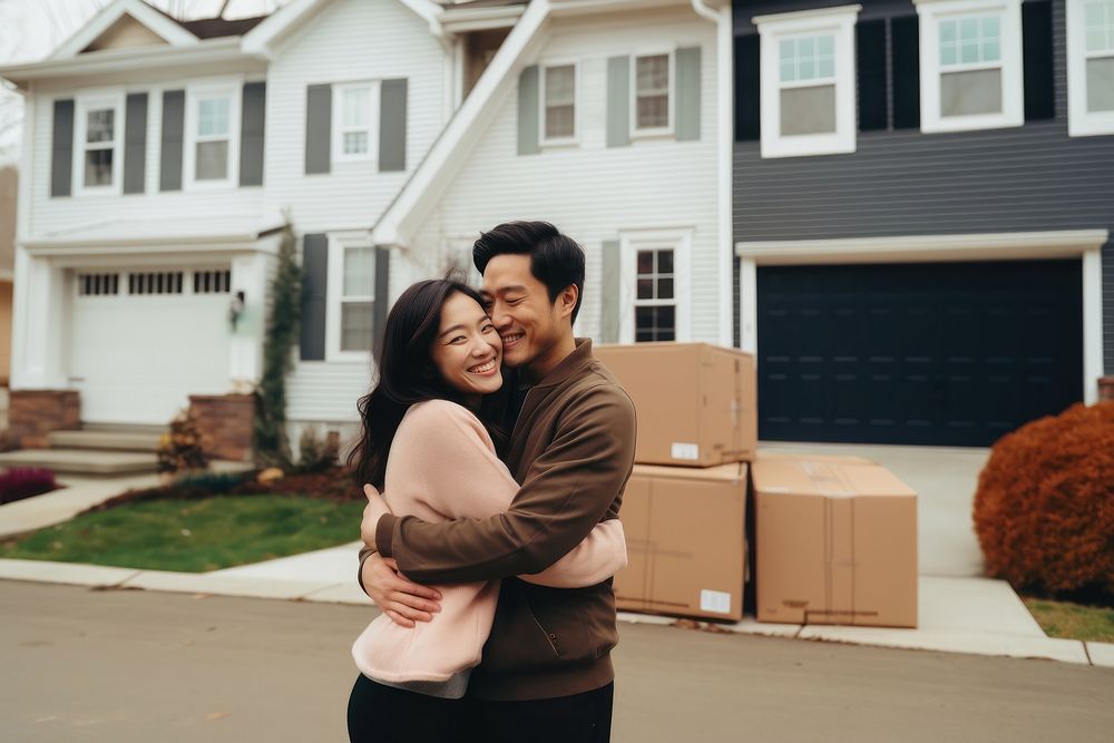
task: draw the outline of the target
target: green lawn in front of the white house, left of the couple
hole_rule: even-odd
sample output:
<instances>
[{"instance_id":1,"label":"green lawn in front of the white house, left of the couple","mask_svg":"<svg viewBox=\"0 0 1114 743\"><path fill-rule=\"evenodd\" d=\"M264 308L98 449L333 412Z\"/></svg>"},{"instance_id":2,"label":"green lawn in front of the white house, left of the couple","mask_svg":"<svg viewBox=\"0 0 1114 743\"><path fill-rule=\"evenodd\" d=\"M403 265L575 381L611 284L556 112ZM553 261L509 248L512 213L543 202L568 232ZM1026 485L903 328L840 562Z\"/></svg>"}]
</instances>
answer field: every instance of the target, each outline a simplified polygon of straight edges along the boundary
<instances>
[{"instance_id":1,"label":"green lawn in front of the white house, left of the couple","mask_svg":"<svg viewBox=\"0 0 1114 743\"><path fill-rule=\"evenodd\" d=\"M148 500L0 544L0 557L204 573L360 538L363 502L299 496Z\"/></svg>"}]
</instances>

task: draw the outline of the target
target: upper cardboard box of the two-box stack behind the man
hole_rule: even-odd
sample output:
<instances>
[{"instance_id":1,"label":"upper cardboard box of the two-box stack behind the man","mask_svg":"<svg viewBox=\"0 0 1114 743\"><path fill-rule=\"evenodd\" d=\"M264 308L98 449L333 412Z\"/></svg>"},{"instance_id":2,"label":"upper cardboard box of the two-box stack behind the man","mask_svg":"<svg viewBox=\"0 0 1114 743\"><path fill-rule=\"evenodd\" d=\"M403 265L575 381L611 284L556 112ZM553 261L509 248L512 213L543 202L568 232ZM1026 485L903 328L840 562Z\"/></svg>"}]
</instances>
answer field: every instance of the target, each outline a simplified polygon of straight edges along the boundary
<instances>
[{"instance_id":1,"label":"upper cardboard box of the two-box stack behind the man","mask_svg":"<svg viewBox=\"0 0 1114 743\"><path fill-rule=\"evenodd\" d=\"M712 467L754 458L758 398L751 354L707 343L600 345L593 353L638 411L636 462Z\"/></svg>"}]
</instances>

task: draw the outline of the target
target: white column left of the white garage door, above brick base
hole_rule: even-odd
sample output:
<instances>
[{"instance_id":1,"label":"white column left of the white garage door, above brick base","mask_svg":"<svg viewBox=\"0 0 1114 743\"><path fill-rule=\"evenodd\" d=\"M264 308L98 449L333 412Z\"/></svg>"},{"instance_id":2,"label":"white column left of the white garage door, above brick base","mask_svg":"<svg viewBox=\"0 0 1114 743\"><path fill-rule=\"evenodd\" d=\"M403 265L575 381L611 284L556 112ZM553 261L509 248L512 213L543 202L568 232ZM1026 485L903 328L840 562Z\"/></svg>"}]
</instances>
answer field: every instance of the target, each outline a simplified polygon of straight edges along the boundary
<instances>
[{"instance_id":1,"label":"white column left of the white garage door, above brick base","mask_svg":"<svg viewBox=\"0 0 1114 743\"><path fill-rule=\"evenodd\" d=\"M65 390L66 316L70 297L66 272L16 246L12 295L12 390Z\"/></svg>"}]
</instances>

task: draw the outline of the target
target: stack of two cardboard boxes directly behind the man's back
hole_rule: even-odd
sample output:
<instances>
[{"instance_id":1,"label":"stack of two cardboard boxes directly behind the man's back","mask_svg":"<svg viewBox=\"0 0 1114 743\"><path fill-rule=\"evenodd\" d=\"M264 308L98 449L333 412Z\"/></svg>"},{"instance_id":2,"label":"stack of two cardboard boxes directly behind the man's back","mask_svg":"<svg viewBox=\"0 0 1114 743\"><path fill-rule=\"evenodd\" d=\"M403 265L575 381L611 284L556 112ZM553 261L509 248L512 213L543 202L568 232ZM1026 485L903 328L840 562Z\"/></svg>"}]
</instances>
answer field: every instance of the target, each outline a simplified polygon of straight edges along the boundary
<instances>
[{"instance_id":1,"label":"stack of two cardboard boxes directly behind the man's back","mask_svg":"<svg viewBox=\"0 0 1114 743\"><path fill-rule=\"evenodd\" d=\"M706 343L604 345L595 355L638 411L618 607L741 619L746 462L758 449L754 358Z\"/></svg>"}]
</instances>

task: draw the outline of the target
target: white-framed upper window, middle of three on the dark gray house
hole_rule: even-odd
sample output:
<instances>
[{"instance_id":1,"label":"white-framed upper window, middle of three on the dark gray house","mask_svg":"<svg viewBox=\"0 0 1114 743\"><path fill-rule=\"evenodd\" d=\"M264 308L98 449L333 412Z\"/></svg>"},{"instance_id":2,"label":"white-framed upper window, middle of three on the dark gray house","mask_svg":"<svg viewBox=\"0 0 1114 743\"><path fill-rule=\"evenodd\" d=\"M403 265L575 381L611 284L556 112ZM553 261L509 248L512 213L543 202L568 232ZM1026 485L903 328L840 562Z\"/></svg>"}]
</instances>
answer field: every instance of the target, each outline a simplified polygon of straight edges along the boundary
<instances>
[{"instance_id":1,"label":"white-framed upper window, middle of three on the dark gray house","mask_svg":"<svg viewBox=\"0 0 1114 743\"><path fill-rule=\"evenodd\" d=\"M1020 0L916 0L921 130L1020 126Z\"/></svg>"}]
</instances>

